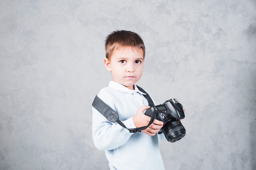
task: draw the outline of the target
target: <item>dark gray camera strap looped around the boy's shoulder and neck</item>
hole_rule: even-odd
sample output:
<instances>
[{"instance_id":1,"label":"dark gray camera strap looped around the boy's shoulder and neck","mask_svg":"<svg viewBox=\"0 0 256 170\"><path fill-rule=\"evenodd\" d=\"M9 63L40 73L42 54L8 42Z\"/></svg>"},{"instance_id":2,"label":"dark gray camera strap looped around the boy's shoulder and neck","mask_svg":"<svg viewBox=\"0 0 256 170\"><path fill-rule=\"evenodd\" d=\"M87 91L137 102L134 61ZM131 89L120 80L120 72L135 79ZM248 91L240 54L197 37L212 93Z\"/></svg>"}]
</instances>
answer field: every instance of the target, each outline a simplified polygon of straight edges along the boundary
<instances>
[{"instance_id":1,"label":"dark gray camera strap looped around the boy's shoulder and neck","mask_svg":"<svg viewBox=\"0 0 256 170\"><path fill-rule=\"evenodd\" d=\"M150 98L150 96L145 92L144 89L142 89L141 87L137 86L139 91L145 93L144 97L148 100L148 105L150 107L154 106L154 102L153 100ZM119 120L119 115L118 113L113 110L110 106L108 106L105 102L103 102L98 96L95 96L93 102L92 102L92 107L94 107L95 109L97 109L97 111L99 111L103 116L105 116L105 118L107 118L108 121L115 123L117 122L118 124L120 124L121 126L123 126L124 128L128 129L123 122L121 122ZM153 123L154 119L156 118L156 113L153 112L151 119L148 123L147 126L143 126L143 127L139 127L139 128L135 128L135 129L128 129L130 131L130 133L136 133L136 132L141 132L144 129L146 129L148 126L150 126L150 124Z\"/></svg>"}]
</instances>

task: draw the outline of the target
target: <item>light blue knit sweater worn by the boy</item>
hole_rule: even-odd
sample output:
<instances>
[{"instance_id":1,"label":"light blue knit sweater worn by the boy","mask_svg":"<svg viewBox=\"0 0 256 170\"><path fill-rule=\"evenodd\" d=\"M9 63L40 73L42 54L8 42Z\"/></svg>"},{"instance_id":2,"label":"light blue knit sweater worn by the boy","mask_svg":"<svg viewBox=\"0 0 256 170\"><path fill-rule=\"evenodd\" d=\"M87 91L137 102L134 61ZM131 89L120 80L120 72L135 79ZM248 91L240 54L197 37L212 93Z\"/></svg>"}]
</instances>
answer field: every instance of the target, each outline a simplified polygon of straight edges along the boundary
<instances>
[{"instance_id":1,"label":"light blue knit sweater worn by the boy","mask_svg":"<svg viewBox=\"0 0 256 170\"><path fill-rule=\"evenodd\" d=\"M98 97L119 114L127 128L136 128L133 116L141 107L136 101L124 96L112 87L101 89ZM144 105L148 101L143 97ZM99 111L92 108L92 137L96 148L105 150L111 170L163 170L159 151L159 137L146 133L130 133L117 123L109 122Z\"/></svg>"}]
</instances>

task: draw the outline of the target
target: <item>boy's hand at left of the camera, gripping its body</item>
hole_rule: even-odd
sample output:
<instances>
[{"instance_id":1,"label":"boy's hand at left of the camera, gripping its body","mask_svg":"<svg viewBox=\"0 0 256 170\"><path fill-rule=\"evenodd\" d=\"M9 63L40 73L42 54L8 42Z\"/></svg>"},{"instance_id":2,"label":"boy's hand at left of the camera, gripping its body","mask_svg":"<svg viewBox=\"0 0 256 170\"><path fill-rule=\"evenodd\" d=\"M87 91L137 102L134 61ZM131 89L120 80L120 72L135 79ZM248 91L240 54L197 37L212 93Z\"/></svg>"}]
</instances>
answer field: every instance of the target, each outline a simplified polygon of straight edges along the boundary
<instances>
[{"instance_id":1,"label":"boy's hand at left of the camera, gripping its body","mask_svg":"<svg viewBox=\"0 0 256 170\"><path fill-rule=\"evenodd\" d=\"M142 127L142 126L148 125L151 118L149 116L144 115L143 112L149 108L150 108L150 106L144 105L138 109L137 113L133 117L133 122L136 127ZM160 129L163 127L163 125L164 125L164 122L155 119L154 122L152 124L150 124L150 126L148 126L148 128L144 129L141 132L144 132L150 136L154 136L157 132L160 131Z\"/></svg>"}]
</instances>

